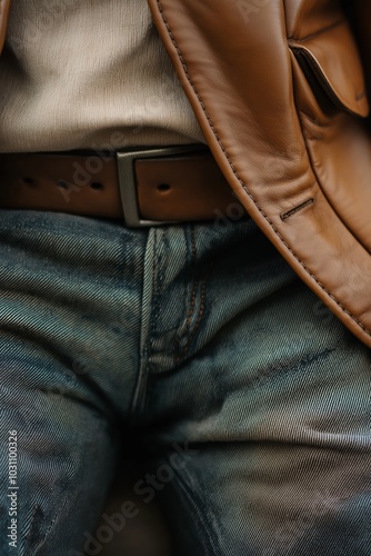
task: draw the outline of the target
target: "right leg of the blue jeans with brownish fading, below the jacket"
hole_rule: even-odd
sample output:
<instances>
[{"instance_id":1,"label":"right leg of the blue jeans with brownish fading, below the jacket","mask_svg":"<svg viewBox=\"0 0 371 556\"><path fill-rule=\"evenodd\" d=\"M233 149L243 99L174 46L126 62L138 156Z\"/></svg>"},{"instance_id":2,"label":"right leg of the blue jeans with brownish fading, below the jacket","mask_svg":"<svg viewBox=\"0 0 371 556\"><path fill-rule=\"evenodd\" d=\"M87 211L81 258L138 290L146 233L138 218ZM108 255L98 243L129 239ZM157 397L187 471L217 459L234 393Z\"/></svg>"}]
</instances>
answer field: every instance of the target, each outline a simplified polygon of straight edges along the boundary
<instances>
[{"instance_id":1,"label":"right leg of the blue jeans with brownish fading, below the jacket","mask_svg":"<svg viewBox=\"0 0 371 556\"><path fill-rule=\"evenodd\" d=\"M138 488L164 500L179 555L367 556L370 350L249 226L199 231L214 265L187 356L152 359Z\"/></svg>"}]
</instances>

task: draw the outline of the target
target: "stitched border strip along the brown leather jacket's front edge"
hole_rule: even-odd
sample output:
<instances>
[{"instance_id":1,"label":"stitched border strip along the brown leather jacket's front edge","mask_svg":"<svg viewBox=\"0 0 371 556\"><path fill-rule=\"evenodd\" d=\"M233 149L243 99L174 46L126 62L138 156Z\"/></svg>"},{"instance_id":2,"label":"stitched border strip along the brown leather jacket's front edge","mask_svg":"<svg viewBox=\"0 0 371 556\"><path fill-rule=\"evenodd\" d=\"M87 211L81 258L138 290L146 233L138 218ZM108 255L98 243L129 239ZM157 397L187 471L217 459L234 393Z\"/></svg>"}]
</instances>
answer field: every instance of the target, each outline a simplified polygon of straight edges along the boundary
<instances>
[{"instance_id":1,"label":"stitched border strip along the brown leather jacket's front edge","mask_svg":"<svg viewBox=\"0 0 371 556\"><path fill-rule=\"evenodd\" d=\"M186 63L186 60L183 58L183 54L176 41L176 38L171 31L171 28L169 26L169 22L164 16L164 11L163 11L163 8L162 8L162 4L161 4L161 1L160 0L156 0L157 2L157 6L158 6L158 9L161 13L161 18L162 18L162 21L163 21L163 24L166 26L167 30L168 30L168 33L169 33L169 37L178 52L178 56L179 56L179 59L180 59L180 62L183 67L183 71L186 73L186 77L190 83L190 86L192 87L192 90L194 91L194 95L197 96L200 105L201 105L201 108L208 119L208 122L210 125L210 128L222 150L222 152L224 153L229 165L230 165L230 168L232 170L232 172L234 173L235 178L238 179L238 181L240 182L242 189L247 192L247 195L250 197L250 199L252 200L252 202L255 205L257 209L259 210L259 212L264 217L264 219L268 221L268 224L271 226L272 230L274 231L274 234L277 235L277 237L281 240L281 242L285 246L285 248L291 252L291 255L295 258L295 260L302 266L302 268L305 270L305 272L315 281L315 284L318 284L318 286L338 305L338 307L345 314L348 315L368 336L371 337L371 330L369 330L368 328L365 328L364 325L362 325L362 322L360 322L358 320L358 318L352 315L348 309L345 309L345 307L339 301L339 299L337 299L332 294L331 291L329 291L325 286L317 278L317 276L314 276L311 270L305 266L305 264L300 259L300 257L298 257L298 255L292 250L292 248L284 241L283 237L281 236L281 234L279 232L279 230L275 228L274 224L270 220L270 218L268 217L268 215L265 215L265 212L262 210L262 208L259 206L259 203L257 202L257 200L254 199L253 195L251 193L251 191L248 189L247 185L242 181L241 177L239 176L239 173L237 172L231 159L230 159L230 156L228 155L221 139L219 138L219 135L212 123L212 120L210 118L210 115L204 106L204 102L202 100L202 97L201 95L199 93L199 91L197 90L195 86L193 85L192 82L192 79L191 79L191 76L189 75L189 71L188 71L188 68L187 68L187 63Z\"/></svg>"}]
</instances>

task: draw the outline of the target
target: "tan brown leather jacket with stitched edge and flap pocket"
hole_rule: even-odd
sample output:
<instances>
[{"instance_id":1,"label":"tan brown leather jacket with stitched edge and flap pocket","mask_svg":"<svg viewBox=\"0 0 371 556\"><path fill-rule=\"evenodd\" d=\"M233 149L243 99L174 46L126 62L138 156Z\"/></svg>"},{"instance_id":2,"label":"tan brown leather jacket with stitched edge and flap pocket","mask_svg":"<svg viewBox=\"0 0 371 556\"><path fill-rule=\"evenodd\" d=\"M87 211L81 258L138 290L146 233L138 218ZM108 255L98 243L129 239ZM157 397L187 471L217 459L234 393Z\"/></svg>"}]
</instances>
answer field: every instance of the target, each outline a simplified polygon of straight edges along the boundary
<instances>
[{"instance_id":1,"label":"tan brown leather jacket with stitched edge and flap pocket","mask_svg":"<svg viewBox=\"0 0 371 556\"><path fill-rule=\"evenodd\" d=\"M148 2L230 186L371 347L371 2L352 2L353 31L340 0Z\"/></svg>"}]
</instances>

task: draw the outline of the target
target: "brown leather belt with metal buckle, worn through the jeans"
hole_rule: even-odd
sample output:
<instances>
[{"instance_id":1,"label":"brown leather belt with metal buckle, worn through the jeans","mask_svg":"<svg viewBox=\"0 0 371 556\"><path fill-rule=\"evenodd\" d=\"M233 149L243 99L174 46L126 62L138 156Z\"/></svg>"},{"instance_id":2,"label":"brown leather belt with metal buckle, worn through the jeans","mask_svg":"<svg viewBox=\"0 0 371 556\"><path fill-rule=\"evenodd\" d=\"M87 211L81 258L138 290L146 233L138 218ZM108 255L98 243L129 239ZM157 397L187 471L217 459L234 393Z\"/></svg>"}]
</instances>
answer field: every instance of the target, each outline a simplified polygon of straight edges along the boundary
<instances>
[{"instance_id":1,"label":"brown leather belt with metal buckle, worn through the jeans","mask_svg":"<svg viewBox=\"0 0 371 556\"><path fill-rule=\"evenodd\" d=\"M123 218L130 227L247 216L200 146L0 155L0 208Z\"/></svg>"}]
</instances>

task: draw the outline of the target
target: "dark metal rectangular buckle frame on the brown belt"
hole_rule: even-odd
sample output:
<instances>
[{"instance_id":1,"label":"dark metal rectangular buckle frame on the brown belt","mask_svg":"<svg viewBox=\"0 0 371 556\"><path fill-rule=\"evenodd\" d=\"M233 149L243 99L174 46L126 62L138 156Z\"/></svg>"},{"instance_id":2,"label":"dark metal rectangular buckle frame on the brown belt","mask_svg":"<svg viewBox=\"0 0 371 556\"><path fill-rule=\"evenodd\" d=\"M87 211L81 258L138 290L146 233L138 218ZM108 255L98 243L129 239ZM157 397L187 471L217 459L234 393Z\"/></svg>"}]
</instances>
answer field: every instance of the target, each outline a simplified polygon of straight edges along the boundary
<instances>
[{"instance_id":1,"label":"dark metal rectangular buckle frame on the brown belt","mask_svg":"<svg viewBox=\"0 0 371 556\"><path fill-rule=\"evenodd\" d=\"M202 145L183 145L174 147L157 147L152 149L136 149L118 151L118 176L121 195L121 203L124 224L129 228L147 228L149 226L163 226L174 224L170 220L143 220L139 212L138 195L137 195L137 179L136 179L136 160L143 158L161 158L161 157L179 157L187 155L191 151L197 151L202 148Z\"/></svg>"}]
</instances>

